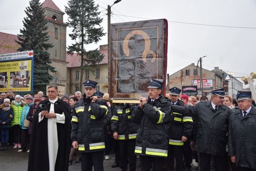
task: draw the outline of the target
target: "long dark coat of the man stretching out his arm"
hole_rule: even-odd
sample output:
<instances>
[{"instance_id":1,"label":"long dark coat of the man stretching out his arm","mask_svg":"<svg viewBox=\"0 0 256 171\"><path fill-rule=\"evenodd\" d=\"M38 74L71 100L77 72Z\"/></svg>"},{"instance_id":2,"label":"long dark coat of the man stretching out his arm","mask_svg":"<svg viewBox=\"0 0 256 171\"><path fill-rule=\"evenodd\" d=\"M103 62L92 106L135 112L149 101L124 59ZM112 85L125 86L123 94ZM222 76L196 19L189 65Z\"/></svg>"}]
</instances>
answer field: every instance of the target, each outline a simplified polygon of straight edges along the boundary
<instances>
[{"instance_id":1,"label":"long dark coat of the man stretching out his arm","mask_svg":"<svg viewBox=\"0 0 256 171\"><path fill-rule=\"evenodd\" d=\"M194 106L173 105L173 112L197 116L198 131L195 150L216 156L226 155L228 118L232 111L222 104L217 111L211 101L201 101Z\"/></svg>"}]
</instances>

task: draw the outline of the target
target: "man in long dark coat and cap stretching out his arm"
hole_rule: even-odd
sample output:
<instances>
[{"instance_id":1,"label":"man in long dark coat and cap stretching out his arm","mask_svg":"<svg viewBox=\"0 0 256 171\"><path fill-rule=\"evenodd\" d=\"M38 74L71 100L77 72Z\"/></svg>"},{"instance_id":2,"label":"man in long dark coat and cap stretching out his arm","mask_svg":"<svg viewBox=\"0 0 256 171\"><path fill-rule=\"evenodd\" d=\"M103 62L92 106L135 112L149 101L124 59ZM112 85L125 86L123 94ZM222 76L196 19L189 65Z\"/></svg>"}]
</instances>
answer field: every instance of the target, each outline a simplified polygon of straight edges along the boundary
<instances>
[{"instance_id":1,"label":"man in long dark coat and cap stretching out his arm","mask_svg":"<svg viewBox=\"0 0 256 171\"><path fill-rule=\"evenodd\" d=\"M194 106L173 105L173 112L197 116L198 132L195 150L200 153L200 168L210 171L211 156L215 170L225 170L228 118L232 111L223 104L225 91L212 91L211 101L201 101ZM216 110L216 111L215 111Z\"/></svg>"}]
</instances>

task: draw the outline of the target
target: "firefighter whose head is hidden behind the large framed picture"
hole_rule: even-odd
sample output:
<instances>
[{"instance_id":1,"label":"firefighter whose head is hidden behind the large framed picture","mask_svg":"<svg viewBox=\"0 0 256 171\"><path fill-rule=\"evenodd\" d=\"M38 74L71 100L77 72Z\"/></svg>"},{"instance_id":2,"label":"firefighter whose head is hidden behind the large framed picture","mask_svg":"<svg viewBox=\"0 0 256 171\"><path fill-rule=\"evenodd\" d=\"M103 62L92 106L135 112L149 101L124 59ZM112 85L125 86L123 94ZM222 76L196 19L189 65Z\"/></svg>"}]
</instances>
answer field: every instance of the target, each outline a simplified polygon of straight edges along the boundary
<instances>
[{"instance_id":1,"label":"firefighter whose head is hidden behind the large framed picture","mask_svg":"<svg viewBox=\"0 0 256 171\"><path fill-rule=\"evenodd\" d=\"M128 169L127 158L129 157L130 171L136 170L135 144L139 125L131 122L131 112L135 105L121 103L115 106L111 118L111 129L113 138L119 141L119 167L122 170Z\"/></svg>"}]
</instances>

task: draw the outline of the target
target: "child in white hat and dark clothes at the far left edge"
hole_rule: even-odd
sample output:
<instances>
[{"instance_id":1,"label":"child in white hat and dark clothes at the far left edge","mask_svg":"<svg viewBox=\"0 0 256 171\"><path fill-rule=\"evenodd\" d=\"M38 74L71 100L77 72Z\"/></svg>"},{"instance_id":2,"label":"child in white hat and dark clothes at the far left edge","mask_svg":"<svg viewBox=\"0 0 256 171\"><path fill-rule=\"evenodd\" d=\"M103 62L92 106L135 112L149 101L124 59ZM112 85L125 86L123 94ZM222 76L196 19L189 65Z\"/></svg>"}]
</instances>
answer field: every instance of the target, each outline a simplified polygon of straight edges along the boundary
<instances>
[{"instance_id":1,"label":"child in white hat and dark clothes at the far left edge","mask_svg":"<svg viewBox=\"0 0 256 171\"><path fill-rule=\"evenodd\" d=\"M3 104L0 105L0 130L1 130L1 149L7 150L9 139L9 130L11 129L12 119L14 117L13 109L10 106L10 99L5 98Z\"/></svg>"}]
</instances>

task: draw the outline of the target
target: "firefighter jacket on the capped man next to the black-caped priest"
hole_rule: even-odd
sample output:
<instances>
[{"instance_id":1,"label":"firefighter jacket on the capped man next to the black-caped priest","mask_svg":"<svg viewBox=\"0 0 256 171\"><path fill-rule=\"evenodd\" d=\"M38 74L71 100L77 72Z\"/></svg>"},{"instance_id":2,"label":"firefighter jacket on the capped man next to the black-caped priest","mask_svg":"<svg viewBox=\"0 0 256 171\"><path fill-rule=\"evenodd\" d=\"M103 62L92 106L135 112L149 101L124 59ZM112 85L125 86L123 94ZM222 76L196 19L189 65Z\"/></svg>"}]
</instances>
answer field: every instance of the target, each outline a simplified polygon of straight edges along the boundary
<instances>
[{"instance_id":1,"label":"firefighter jacket on the capped man next to the black-caped priest","mask_svg":"<svg viewBox=\"0 0 256 171\"><path fill-rule=\"evenodd\" d=\"M83 99L75 103L71 141L78 142L79 152L104 150L105 119L110 121L111 115L108 116L108 104L104 100L98 99L96 102L91 102L91 99L86 98L84 94Z\"/></svg>"}]
</instances>

